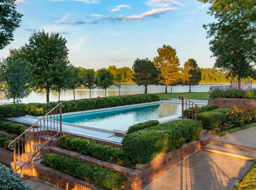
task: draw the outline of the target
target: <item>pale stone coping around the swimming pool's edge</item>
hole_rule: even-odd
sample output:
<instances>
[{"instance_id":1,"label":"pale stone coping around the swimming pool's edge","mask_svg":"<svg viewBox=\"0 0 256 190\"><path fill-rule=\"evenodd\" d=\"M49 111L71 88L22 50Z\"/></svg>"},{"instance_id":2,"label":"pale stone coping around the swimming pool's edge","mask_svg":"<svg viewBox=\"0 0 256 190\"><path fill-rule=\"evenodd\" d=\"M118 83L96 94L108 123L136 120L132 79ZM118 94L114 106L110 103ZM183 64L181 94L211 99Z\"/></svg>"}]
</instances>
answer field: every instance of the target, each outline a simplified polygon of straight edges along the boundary
<instances>
[{"instance_id":1,"label":"pale stone coping around the swimming pool's edge","mask_svg":"<svg viewBox=\"0 0 256 190\"><path fill-rule=\"evenodd\" d=\"M84 111L79 111L79 112L69 112L69 113L62 114L62 116L71 116L71 115L78 115L78 114L85 114L85 113L92 113L92 112L102 112L102 111L107 111L107 110L122 109L122 108L142 106L142 105L151 105L151 104L158 104L158 103L182 104L181 101L177 102L177 101L170 101L170 100L160 100L160 101L147 102L147 103L139 103L139 104L116 106L116 107L107 107L107 108L100 108L100 109L84 110ZM197 104L207 105L205 103L197 103ZM165 122L168 122L172 119L179 118L180 116L181 116L181 114L176 114L176 115L172 115L172 116L168 116L168 117L159 118L159 119L156 119L156 120L158 120L160 123L165 123ZM34 119L41 119L43 116L39 116L39 117L25 116L25 117L30 117L30 118L34 118ZM52 117L53 117L53 115L52 115ZM52 120L52 122L59 123L59 121L55 121L55 120L54 121ZM128 128L130 127L130 126L123 126L123 127L119 127L119 128L109 130L109 129L102 129L102 128L97 128L97 127L90 127L90 126L78 125L78 124L66 123L66 122L62 122L62 124L73 126L73 127L79 127L79 128L94 130L94 131L99 131L99 132L105 132L105 133L112 133L112 134L113 133L114 134L118 133L118 134L121 134L121 135L127 134L128 133Z\"/></svg>"}]
</instances>

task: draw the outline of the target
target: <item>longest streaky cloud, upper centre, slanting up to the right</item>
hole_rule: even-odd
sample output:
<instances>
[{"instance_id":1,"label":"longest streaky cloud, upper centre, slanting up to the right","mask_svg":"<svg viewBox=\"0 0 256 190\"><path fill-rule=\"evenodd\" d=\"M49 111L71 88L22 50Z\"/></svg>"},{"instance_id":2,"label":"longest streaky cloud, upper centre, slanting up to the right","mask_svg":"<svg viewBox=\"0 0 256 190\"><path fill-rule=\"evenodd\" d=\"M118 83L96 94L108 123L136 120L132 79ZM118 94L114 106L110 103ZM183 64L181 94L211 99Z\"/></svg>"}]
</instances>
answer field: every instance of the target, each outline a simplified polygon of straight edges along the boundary
<instances>
[{"instance_id":1,"label":"longest streaky cloud, upper centre, slanting up to the right","mask_svg":"<svg viewBox=\"0 0 256 190\"><path fill-rule=\"evenodd\" d=\"M128 17L122 17L118 16L116 17L116 20L125 22L125 21L139 21L140 19L146 18L146 17L157 17L158 15L164 14L165 12L169 12L172 10L177 9L176 7L167 7L167 8L157 8L157 9L152 9L148 12L145 12L143 14L139 15L132 15Z\"/></svg>"}]
</instances>

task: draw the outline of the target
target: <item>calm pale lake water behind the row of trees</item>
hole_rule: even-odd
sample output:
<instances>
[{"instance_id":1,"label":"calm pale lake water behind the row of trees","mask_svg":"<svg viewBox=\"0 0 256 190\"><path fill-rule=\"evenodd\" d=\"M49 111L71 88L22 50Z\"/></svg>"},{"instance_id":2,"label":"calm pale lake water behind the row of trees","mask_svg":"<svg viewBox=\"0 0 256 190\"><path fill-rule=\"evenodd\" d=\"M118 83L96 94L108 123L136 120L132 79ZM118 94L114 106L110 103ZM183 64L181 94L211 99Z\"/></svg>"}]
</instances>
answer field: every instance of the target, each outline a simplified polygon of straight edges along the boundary
<instances>
[{"instance_id":1,"label":"calm pale lake water behind the row of trees","mask_svg":"<svg viewBox=\"0 0 256 190\"><path fill-rule=\"evenodd\" d=\"M223 84L228 85L228 84ZM221 86L221 84L200 84L198 86L191 87L191 92L208 92L210 86ZM253 84L253 87L256 88L256 84ZM164 86L148 86L148 93L164 93ZM177 86L173 87L172 92L188 92L188 86ZM171 92L171 87L168 87L168 92ZM129 94L144 94L144 87L138 85L124 85L121 88L121 95L129 95ZM111 89L107 90L107 96L118 96L119 89L116 87L111 87ZM2 98L4 94L0 94L0 98ZM76 99L89 98L89 90L88 89L76 89L75 90ZM104 97L105 91L101 89L93 89L92 90L92 98L97 98L98 96ZM63 91L60 93L60 100L73 100L73 91ZM58 93L51 92L50 93L50 101L58 101ZM12 102L12 100L0 100L0 102ZM46 92L31 92L27 98L22 99L22 103L46 103Z\"/></svg>"}]
</instances>

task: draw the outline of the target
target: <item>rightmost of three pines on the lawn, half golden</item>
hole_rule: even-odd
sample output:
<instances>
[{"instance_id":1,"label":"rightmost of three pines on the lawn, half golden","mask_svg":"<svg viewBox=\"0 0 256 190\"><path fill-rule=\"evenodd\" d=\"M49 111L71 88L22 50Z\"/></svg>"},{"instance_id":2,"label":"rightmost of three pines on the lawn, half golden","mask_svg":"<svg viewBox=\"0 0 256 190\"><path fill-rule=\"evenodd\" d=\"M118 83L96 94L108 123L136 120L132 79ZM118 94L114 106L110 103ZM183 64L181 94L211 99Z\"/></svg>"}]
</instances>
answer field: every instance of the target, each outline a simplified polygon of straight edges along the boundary
<instances>
[{"instance_id":1,"label":"rightmost of three pines on the lawn, half golden","mask_svg":"<svg viewBox=\"0 0 256 190\"><path fill-rule=\"evenodd\" d=\"M202 73L195 59L188 59L181 72L182 83L189 86L189 92L191 92L191 86L199 85L199 82L202 80Z\"/></svg>"}]
</instances>

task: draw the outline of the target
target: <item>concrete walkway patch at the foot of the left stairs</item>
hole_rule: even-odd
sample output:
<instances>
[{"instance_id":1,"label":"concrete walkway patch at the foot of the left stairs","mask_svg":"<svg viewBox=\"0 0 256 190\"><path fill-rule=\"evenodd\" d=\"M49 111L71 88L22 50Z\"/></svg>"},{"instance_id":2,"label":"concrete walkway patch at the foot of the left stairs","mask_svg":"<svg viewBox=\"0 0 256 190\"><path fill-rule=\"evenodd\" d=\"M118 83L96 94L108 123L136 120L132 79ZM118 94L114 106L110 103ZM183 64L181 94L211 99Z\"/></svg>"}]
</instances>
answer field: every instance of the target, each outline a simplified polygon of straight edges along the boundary
<instances>
[{"instance_id":1,"label":"concrete walkway patch at the foot of the left stairs","mask_svg":"<svg viewBox=\"0 0 256 190\"><path fill-rule=\"evenodd\" d=\"M40 180L38 178L32 177L25 182L33 188L33 190L64 190L60 187L57 187L56 185L53 185L51 183L45 182L43 180Z\"/></svg>"}]
</instances>

